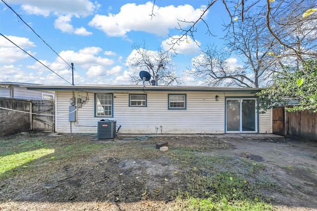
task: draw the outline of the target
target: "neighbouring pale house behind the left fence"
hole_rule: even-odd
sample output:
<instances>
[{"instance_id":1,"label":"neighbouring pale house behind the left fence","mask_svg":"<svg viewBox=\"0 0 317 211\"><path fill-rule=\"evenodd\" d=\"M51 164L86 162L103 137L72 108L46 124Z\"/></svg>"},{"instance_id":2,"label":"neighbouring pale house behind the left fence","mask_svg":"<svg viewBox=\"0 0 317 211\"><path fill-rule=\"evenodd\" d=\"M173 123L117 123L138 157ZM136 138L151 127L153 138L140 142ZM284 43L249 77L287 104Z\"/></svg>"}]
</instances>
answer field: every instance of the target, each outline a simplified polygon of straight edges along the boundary
<instances>
[{"instance_id":1,"label":"neighbouring pale house behind the left fence","mask_svg":"<svg viewBox=\"0 0 317 211\"><path fill-rule=\"evenodd\" d=\"M21 85L36 85L16 82L0 82L0 97L27 99L27 100L53 100L53 92L44 92L39 90L28 90Z\"/></svg>"}]
</instances>

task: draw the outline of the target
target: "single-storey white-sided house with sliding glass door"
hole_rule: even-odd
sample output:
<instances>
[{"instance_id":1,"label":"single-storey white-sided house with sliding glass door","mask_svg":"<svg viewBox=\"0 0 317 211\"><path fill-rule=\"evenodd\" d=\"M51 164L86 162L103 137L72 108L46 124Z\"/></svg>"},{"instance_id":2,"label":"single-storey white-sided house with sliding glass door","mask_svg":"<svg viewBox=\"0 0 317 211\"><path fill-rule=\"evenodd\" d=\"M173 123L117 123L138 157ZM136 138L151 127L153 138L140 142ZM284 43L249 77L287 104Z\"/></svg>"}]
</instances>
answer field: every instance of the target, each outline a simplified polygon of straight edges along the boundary
<instances>
[{"instance_id":1,"label":"single-storey white-sided house with sliding glass door","mask_svg":"<svg viewBox=\"0 0 317 211\"><path fill-rule=\"evenodd\" d=\"M23 85L54 91L55 132L96 133L115 120L122 134L271 133L257 112L261 88L152 85Z\"/></svg>"}]
</instances>

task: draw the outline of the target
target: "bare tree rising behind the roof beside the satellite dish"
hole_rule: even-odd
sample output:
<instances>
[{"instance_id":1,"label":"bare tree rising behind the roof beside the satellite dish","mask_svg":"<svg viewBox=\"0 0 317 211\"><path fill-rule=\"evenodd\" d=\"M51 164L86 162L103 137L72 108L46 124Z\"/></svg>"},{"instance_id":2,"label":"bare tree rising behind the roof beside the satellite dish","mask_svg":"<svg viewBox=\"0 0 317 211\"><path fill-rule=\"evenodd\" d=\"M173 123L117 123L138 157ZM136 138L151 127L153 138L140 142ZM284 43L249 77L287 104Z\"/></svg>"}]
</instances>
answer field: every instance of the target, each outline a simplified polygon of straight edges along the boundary
<instances>
[{"instance_id":1,"label":"bare tree rising behind the roof beside the satellite dish","mask_svg":"<svg viewBox=\"0 0 317 211\"><path fill-rule=\"evenodd\" d=\"M130 73L130 82L132 84L142 83L139 76L140 71L150 73L153 80L158 79L161 85L180 85L182 80L176 74L176 67L173 63L174 54L170 51L147 50L145 43L134 44L134 55L130 55L127 59L128 66L132 69Z\"/></svg>"}]
</instances>

